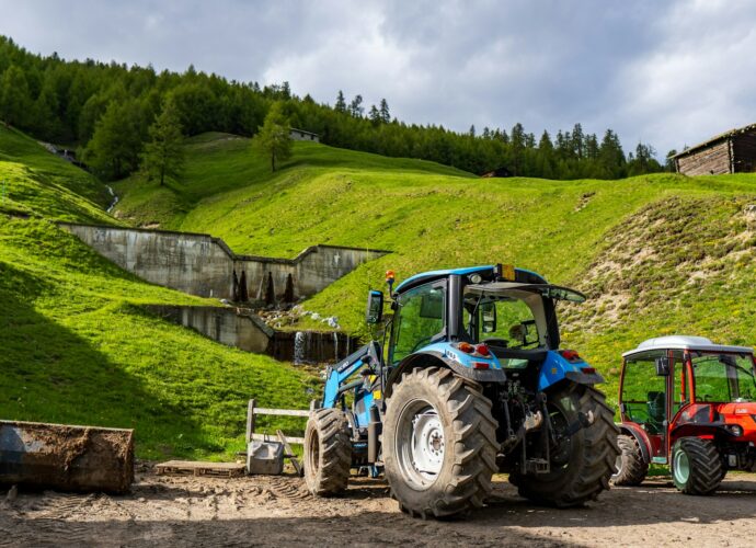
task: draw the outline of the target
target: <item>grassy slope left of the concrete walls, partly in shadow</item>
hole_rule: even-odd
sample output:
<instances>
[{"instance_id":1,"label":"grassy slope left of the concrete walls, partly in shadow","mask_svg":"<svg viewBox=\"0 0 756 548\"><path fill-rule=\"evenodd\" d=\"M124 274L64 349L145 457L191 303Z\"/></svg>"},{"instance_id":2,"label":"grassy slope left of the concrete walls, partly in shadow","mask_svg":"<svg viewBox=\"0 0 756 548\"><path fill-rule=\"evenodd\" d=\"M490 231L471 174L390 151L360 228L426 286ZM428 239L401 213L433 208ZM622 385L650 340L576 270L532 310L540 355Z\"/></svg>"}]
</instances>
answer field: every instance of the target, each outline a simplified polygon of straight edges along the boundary
<instances>
[{"instance_id":1,"label":"grassy slope left of the concrete walls, partly in shadow","mask_svg":"<svg viewBox=\"0 0 756 548\"><path fill-rule=\"evenodd\" d=\"M0 127L0 418L135 427L137 455L243 448L247 400L306 407L312 377L140 304L213 304L146 284L51 220L114 222L101 183Z\"/></svg>"}]
</instances>

